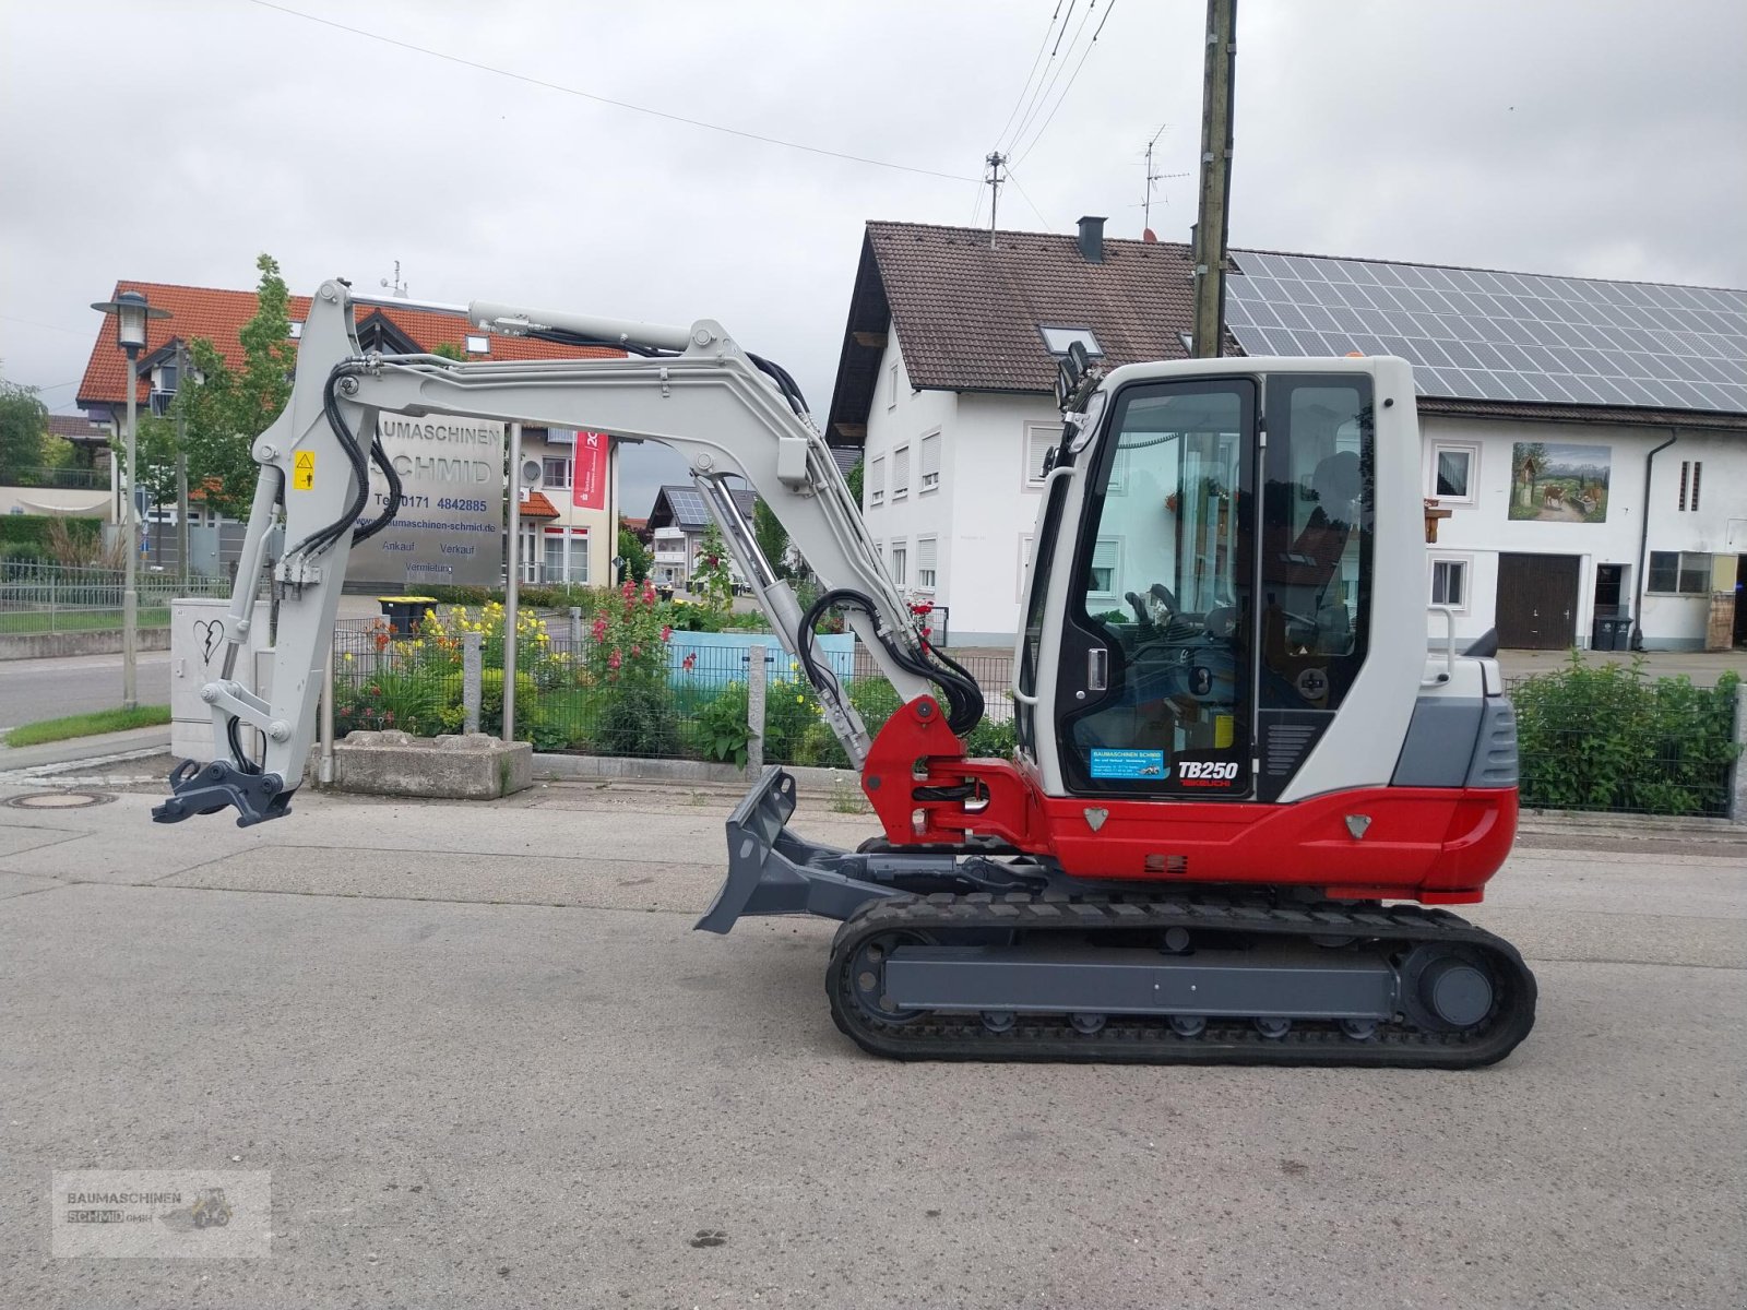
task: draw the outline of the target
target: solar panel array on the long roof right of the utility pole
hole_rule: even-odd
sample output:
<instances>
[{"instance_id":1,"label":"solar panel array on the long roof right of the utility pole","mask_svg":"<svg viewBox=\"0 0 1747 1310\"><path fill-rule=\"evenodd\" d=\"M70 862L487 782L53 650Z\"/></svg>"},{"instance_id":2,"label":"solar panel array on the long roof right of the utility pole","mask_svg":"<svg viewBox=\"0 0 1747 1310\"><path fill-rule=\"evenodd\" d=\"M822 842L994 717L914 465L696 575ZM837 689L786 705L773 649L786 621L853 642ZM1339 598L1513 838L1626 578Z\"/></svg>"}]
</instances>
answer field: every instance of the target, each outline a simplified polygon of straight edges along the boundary
<instances>
[{"instance_id":1,"label":"solar panel array on the long roof right of the utility pole","mask_svg":"<svg viewBox=\"0 0 1747 1310\"><path fill-rule=\"evenodd\" d=\"M1232 252L1247 355L1399 355L1422 395L1747 412L1747 292Z\"/></svg>"}]
</instances>

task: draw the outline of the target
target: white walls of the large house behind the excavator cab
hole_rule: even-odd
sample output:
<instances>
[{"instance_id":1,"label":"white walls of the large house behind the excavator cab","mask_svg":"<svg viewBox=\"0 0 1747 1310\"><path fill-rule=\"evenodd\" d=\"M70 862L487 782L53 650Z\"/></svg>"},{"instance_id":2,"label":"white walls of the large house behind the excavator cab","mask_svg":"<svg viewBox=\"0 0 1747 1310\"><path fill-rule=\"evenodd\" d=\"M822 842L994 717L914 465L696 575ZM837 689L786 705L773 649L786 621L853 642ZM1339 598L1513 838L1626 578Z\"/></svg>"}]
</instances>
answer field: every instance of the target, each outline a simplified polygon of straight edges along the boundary
<instances>
[{"instance_id":1,"label":"white walls of the large house behind the excavator cab","mask_svg":"<svg viewBox=\"0 0 1747 1310\"><path fill-rule=\"evenodd\" d=\"M889 396L891 367L898 365ZM1019 590L1025 543L1038 515L1039 489L1025 477L1027 424L1057 423L1050 396L980 391L910 391L896 334L887 341L879 390L867 428L863 514L887 566L894 543L907 552L903 585L917 590L917 540L936 538L938 587L933 599L949 608L954 645L1008 645L1019 625ZM887 398L893 403L887 405ZM921 440L940 431L940 489L921 491ZM1478 456L1471 503L1443 500L1452 517L1427 547L1426 597L1431 601L1431 561L1467 568L1464 604L1455 615L1459 641L1480 638L1497 624L1501 554L1576 555L1574 615L1579 646L1590 645L1595 618L1595 576L1600 564L1625 566L1621 610L1637 615L1649 648L1698 648L1709 613L1707 596L1639 594L1644 529L1644 459L1668 440L1665 428L1619 424L1523 423L1429 414L1420 419L1426 494L1436 491L1433 459L1440 445L1466 445ZM1511 521L1513 445L1609 447L1605 522ZM893 458L908 447L910 486L891 498ZM882 459L884 496L874 503L874 461ZM1703 463L1703 494L1696 512L1679 510L1682 461ZM1747 438L1738 433L1681 430L1675 445L1656 456L1649 496L1649 545L1709 555L1747 554ZM1649 554L1644 554L1647 566ZM1726 568L1723 571L1728 571ZM1721 573L1719 573L1721 576ZM1730 575L1733 576L1733 575ZM1443 638L1443 620L1427 617L1427 638Z\"/></svg>"}]
</instances>

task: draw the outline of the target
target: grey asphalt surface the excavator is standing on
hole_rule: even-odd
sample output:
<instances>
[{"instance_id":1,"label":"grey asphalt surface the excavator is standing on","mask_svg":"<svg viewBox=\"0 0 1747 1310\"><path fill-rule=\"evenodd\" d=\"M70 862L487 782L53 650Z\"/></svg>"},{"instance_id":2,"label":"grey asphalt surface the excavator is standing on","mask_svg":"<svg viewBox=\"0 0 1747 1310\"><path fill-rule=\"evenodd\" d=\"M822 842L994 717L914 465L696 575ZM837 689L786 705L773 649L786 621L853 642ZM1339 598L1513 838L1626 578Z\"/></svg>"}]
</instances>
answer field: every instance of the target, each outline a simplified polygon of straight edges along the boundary
<instances>
[{"instance_id":1,"label":"grey asphalt surface the excavator is standing on","mask_svg":"<svg viewBox=\"0 0 1747 1310\"><path fill-rule=\"evenodd\" d=\"M898 1065L828 924L690 931L690 800L0 809L0 1300L1747 1301L1744 840L1525 840L1476 919L1539 1025L1488 1071ZM54 1259L77 1167L267 1169L273 1254Z\"/></svg>"}]
</instances>

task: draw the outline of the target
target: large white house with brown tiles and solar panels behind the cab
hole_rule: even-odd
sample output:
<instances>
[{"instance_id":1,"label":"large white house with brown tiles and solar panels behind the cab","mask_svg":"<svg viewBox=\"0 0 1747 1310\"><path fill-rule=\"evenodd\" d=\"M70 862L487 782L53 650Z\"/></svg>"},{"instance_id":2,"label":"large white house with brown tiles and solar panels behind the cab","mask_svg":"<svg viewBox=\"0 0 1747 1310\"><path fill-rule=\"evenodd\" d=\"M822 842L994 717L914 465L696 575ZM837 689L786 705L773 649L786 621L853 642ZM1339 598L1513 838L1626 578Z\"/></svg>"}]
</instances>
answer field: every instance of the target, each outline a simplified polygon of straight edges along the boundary
<instances>
[{"instance_id":1,"label":"large white house with brown tiles and solar panels behind the cab","mask_svg":"<svg viewBox=\"0 0 1747 1310\"><path fill-rule=\"evenodd\" d=\"M1459 639L1702 648L1742 632L1747 293L1233 252L1228 353L1415 365L1427 606ZM893 580L1008 643L1057 360L1184 358L1188 246L870 222L826 438L861 447ZM1674 438L1672 445L1667 442ZM1661 449L1658 449L1661 447ZM1695 491L1696 486L1696 491ZM1120 548L1113 543L1111 548ZM1605 622L1599 622L1605 620ZM1443 638L1445 613L1427 617Z\"/></svg>"}]
</instances>

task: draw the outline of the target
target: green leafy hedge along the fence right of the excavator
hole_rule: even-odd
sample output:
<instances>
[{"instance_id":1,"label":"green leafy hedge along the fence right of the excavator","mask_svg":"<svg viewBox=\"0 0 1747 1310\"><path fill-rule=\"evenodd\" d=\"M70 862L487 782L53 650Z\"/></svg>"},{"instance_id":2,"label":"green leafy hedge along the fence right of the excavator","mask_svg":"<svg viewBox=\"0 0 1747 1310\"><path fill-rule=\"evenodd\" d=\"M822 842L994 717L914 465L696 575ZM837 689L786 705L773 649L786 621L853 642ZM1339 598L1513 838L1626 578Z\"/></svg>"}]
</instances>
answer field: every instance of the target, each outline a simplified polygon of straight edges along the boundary
<instances>
[{"instance_id":1,"label":"green leafy hedge along the fence right of the excavator","mask_svg":"<svg viewBox=\"0 0 1747 1310\"><path fill-rule=\"evenodd\" d=\"M1522 803L1534 809L1626 814L1721 814L1728 803L1735 688L1630 667L1585 665L1578 652L1558 672L1511 690L1522 767Z\"/></svg>"}]
</instances>

